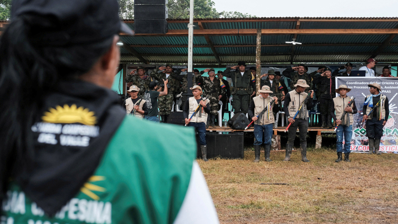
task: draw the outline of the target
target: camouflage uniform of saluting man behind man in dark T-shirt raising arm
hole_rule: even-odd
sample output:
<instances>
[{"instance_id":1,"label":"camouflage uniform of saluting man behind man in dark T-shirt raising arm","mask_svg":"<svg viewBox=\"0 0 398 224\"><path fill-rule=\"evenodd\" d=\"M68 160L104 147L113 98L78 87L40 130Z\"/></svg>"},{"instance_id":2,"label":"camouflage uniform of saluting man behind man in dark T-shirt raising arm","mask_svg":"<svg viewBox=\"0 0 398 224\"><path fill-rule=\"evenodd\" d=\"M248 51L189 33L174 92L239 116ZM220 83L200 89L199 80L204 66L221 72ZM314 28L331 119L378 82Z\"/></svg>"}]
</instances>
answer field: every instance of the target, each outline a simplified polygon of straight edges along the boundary
<instances>
[{"instance_id":1,"label":"camouflage uniform of saluting man behind man in dark T-shirt raising arm","mask_svg":"<svg viewBox=\"0 0 398 224\"><path fill-rule=\"evenodd\" d=\"M158 73L159 69L154 69L150 76L156 79L159 83L162 79L166 80L166 73ZM174 93L179 90L179 81L176 79L177 73L172 72L167 78L167 95L158 97L159 115L169 115L173 107Z\"/></svg>"}]
</instances>

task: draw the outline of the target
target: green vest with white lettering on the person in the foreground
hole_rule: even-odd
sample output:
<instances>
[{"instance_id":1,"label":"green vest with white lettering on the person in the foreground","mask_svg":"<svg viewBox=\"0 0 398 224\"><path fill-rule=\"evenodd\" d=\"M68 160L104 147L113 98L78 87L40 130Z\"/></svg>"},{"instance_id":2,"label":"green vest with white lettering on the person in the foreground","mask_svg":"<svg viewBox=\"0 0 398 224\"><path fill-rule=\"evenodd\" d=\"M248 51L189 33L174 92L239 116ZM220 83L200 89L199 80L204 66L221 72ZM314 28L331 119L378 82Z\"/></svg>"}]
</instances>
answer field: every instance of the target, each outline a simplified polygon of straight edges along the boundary
<instances>
[{"instance_id":1,"label":"green vest with white lettering on the person in the foreground","mask_svg":"<svg viewBox=\"0 0 398 224\"><path fill-rule=\"evenodd\" d=\"M174 125L162 125L161 132L158 128L159 124L126 117L92 177L53 218L12 183L2 223L173 223L191 177L195 133Z\"/></svg>"}]
</instances>

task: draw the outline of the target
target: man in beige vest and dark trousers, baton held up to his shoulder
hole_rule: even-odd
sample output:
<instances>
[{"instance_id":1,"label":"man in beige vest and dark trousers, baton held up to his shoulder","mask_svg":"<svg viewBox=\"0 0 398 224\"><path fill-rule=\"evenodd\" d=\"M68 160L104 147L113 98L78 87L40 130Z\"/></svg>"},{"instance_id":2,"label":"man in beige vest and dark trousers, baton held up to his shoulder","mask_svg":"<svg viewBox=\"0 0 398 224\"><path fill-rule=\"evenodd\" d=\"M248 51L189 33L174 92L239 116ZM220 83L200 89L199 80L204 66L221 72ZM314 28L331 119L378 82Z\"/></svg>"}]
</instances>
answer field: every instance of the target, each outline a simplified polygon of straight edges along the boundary
<instances>
[{"instance_id":1,"label":"man in beige vest and dark trousers, baton held up to his shoulder","mask_svg":"<svg viewBox=\"0 0 398 224\"><path fill-rule=\"evenodd\" d=\"M310 98L305 104L303 104L308 95L308 93L304 92L304 90L310 86L304 79L299 79L294 87L296 87L294 90L286 94L285 102L283 103L283 111L285 112L288 121L291 123L286 143L286 156L283 161L290 160L298 127L301 145L301 161L309 162L307 159L308 110L312 108L312 97L314 96L314 90L310 90ZM298 109L300 108L300 105L302 105L302 107L299 111ZM294 118L297 111L299 112L296 118Z\"/></svg>"}]
</instances>

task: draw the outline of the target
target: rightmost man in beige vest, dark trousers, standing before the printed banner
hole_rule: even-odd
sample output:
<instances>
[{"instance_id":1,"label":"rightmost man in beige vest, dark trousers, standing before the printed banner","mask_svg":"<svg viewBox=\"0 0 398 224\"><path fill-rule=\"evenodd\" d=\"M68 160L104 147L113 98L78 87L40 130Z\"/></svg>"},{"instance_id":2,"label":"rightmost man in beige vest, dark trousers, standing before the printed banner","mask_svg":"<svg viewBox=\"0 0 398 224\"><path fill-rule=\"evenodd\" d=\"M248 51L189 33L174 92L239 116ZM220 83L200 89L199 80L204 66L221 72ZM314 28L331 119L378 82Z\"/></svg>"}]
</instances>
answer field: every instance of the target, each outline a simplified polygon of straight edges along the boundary
<instances>
[{"instance_id":1,"label":"rightmost man in beige vest, dark trousers, standing before the printed banner","mask_svg":"<svg viewBox=\"0 0 398 224\"><path fill-rule=\"evenodd\" d=\"M388 107L387 96L380 93L380 85L372 83L368 86L371 94L366 96L365 102L363 103L362 122L366 121L366 136L369 138L368 154L373 154L373 150L375 150L376 155L380 155L381 153L378 151L380 139L383 136L383 127L388 120L388 115L390 115L390 109ZM373 108L373 112L369 114Z\"/></svg>"}]
</instances>

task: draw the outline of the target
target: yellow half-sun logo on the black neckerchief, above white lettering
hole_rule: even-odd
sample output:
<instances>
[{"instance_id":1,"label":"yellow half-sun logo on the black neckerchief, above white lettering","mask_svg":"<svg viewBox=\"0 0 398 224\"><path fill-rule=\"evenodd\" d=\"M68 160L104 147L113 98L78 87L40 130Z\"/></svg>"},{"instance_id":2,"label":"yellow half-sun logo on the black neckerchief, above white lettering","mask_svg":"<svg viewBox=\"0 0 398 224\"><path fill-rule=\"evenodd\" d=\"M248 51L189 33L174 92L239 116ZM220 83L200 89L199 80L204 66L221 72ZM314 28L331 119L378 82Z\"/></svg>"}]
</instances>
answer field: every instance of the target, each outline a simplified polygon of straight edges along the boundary
<instances>
[{"instance_id":1,"label":"yellow half-sun logo on the black neckerchief, above white lettering","mask_svg":"<svg viewBox=\"0 0 398 224\"><path fill-rule=\"evenodd\" d=\"M49 108L49 112L44 112L44 116L41 119L48 123L81 123L85 125L94 125L97 123L94 112L82 106L77 108L76 104L70 107L68 104L65 104L64 107L58 105L55 109Z\"/></svg>"}]
</instances>

